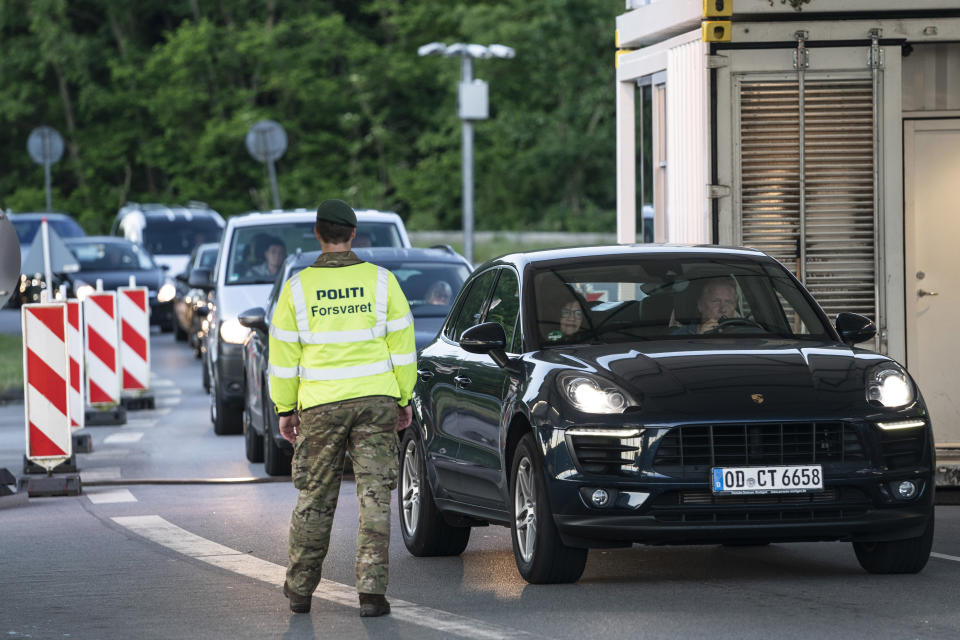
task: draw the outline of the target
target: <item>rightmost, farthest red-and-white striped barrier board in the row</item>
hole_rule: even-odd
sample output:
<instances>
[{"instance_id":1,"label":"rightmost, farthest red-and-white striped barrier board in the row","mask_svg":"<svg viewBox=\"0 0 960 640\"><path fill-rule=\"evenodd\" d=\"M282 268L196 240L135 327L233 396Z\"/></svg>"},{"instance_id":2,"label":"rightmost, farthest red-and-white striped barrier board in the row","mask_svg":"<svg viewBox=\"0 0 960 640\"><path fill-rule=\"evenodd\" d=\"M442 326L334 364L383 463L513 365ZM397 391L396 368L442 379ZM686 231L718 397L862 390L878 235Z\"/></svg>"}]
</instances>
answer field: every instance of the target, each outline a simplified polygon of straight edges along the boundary
<instances>
[{"instance_id":1,"label":"rightmost, farthest red-and-white striped barrier board in the row","mask_svg":"<svg viewBox=\"0 0 960 640\"><path fill-rule=\"evenodd\" d=\"M131 278L132 280L132 278ZM150 306L146 287L119 287L120 368L123 391L150 387Z\"/></svg>"}]
</instances>

